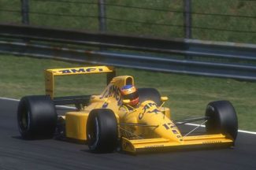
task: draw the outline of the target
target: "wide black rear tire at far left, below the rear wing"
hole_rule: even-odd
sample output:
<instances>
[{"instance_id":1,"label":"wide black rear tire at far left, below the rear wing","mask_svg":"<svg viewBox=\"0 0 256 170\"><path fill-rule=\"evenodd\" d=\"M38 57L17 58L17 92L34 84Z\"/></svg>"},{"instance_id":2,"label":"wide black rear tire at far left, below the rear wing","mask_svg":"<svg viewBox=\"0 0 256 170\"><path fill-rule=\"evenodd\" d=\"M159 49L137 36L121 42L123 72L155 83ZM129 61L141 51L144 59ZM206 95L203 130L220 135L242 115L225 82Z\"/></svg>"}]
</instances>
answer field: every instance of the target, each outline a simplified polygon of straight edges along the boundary
<instances>
[{"instance_id":1,"label":"wide black rear tire at far left, below the rear wing","mask_svg":"<svg viewBox=\"0 0 256 170\"><path fill-rule=\"evenodd\" d=\"M20 99L17 123L24 139L52 138L57 118L50 96L26 96Z\"/></svg>"}]
</instances>

